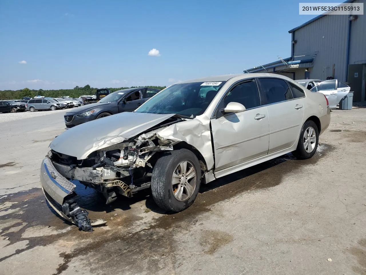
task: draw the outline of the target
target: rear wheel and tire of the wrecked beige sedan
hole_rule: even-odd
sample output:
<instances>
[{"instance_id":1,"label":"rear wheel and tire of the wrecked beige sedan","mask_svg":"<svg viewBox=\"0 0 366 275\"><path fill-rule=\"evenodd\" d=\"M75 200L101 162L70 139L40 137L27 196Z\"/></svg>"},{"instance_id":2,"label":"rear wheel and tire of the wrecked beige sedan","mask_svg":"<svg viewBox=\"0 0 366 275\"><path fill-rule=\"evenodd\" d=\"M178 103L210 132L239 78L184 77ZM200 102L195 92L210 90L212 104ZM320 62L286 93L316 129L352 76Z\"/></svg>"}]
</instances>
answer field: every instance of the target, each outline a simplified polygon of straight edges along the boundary
<instances>
[{"instance_id":1,"label":"rear wheel and tire of the wrecked beige sedan","mask_svg":"<svg viewBox=\"0 0 366 275\"><path fill-rule=\"evenodd\" d=\"M308 120L302 126L298 146L292 154L297 159L308 159L313 157L319 143L319 130L314 121Z\"/></svg>"}]
</instances>

